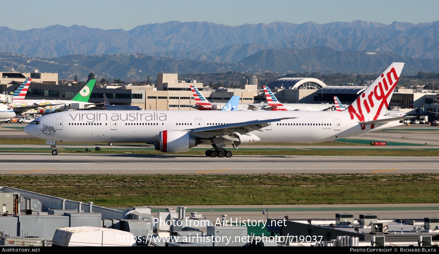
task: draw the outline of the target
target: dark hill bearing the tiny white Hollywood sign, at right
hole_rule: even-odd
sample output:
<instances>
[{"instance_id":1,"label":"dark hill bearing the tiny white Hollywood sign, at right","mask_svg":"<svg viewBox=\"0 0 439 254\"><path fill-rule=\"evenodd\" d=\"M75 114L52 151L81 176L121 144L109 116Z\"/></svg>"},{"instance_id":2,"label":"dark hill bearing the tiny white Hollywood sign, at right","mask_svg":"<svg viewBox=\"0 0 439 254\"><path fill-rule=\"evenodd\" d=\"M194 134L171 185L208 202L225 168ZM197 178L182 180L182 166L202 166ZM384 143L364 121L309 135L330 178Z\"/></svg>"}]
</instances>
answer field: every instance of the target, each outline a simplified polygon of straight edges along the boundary
<instances>
[{"instance_id":1,"label":"dark hill bearing the tiny white Hollywood sign, at right","mask_svg":"<svg viewBox=\"0 0 439 254\"><path fill-rule=\"evenodd\" d=\"M439 72L439 59L416 60L401 57L393 52L337 51L328 47L301 50L264 50L245 57L238 64L252 66L259 72L356 72L366 74L378 72L380 68L385 68L392 62L406 63L403 75L413 75L420 70L427 69L428 72Z\"/></svg>"}]
</instances>

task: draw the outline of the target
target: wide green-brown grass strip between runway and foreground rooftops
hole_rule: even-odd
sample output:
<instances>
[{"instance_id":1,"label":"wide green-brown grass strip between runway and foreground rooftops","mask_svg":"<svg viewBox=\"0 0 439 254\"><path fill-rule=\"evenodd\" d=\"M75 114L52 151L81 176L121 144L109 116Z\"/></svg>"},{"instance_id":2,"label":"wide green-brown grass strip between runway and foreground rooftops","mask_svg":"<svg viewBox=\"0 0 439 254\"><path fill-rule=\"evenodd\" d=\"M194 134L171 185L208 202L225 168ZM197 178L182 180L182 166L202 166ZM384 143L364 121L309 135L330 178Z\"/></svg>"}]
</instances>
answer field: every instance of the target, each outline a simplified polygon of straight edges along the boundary
<instances>
[{"instance_id":1,"label":"wide green-brown grass strip between runway and foreground rooftops","mask_svg":"<svg viewBox=\"0 0 439 254\"><path fill-rule=\"evenodd\" d=\"M1 186L104 207L438 203L439 175L1 175Z\"/></svg>"}]
</instances>

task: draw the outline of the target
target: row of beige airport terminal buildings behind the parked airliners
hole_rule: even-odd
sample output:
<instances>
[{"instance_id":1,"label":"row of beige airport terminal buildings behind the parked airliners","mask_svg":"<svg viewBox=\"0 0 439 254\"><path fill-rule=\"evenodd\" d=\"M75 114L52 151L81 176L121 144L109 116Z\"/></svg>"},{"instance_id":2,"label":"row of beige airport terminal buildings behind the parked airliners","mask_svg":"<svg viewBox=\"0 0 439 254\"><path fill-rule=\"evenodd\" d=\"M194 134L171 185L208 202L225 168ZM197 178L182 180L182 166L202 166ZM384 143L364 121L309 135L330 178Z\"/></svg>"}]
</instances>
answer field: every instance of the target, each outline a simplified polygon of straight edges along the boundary
<instances>
[{"instance_id":1,"label":"row of beige airport terminal buildings behind the parked airliners","mask_svg":"<svg viewBox=\"0 0 439 254\"><path fill-rule=\"evenodd\" d=\"M0 92L11 94L28 77L32 78L26 98L71 99L81 89L74 84L58 85L58 73L1 72ZM240 103L266 102L263 90L252 82L241 89L210 89L196 80L181 81L177 74L158 73L157 84L152 86L95 86L90 102L103 102L104 93L110 104L139 106L151 110L195 110L190 85L196 86L212 104L225 103L234 95L241 97ZM270 84L271 91L282 103L333 103L334 96L349 105L367 86L327 86L313 78L281 78ZM0 98L1 100L2 98ZM397 89L389 107L412 114L439 112L435 93L414 92L412 89ZM432 116L435 118L435 116Z\"/></svg>"}]
</instances>

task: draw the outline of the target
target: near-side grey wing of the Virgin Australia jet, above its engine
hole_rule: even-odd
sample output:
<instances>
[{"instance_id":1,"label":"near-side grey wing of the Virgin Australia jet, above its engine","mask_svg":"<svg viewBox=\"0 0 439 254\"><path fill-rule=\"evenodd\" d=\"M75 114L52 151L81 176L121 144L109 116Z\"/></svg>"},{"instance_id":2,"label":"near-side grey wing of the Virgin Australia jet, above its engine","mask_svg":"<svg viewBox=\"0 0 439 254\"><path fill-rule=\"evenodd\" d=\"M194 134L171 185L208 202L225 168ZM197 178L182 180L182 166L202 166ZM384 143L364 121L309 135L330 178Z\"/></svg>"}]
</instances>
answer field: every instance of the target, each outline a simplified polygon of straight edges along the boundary
<instances>
[{"instance_id":1,"label":"near-side grey wing of the Virgin Australia jet, above its engine","mask_svg":"<svg viewBox=\"0 0 439 254\"><path fill-rule=\"evenodd\" d=\"M274 119L264 119L264 120L253 120L248 122L238 122L231 124L223 124L223 125L212 125L201 128L196 128L190 130L192 133L200 133L200 132L209 132L213 133L226 133L226 132L235 132L237 129L243 129L246 132L251 132L254 130L264 131L263 128L269 126L271 122L279 122L281 120L292 119L296 117L289 118L274 118Z\"/></svg>"}]
</instances>

